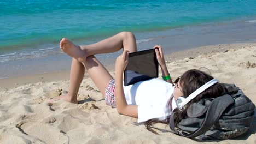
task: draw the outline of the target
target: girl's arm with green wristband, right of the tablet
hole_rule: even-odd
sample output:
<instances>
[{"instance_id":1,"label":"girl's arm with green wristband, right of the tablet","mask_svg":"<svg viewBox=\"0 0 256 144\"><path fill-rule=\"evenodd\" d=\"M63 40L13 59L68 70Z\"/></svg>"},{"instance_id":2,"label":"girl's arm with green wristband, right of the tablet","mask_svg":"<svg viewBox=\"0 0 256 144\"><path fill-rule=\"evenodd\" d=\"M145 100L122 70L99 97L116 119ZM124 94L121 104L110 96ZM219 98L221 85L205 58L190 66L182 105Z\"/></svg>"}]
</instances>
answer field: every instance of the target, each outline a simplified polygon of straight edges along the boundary
<instances>
[{"instance_id":1,"label":"girl's arm with green wristband, right of the tablet","mask_svg":"<svg viewBox=\"0 0 256 144\"><path fill-rule=\"evenodd\" d=\"M162 76L170 75L169 71L166 67L164 53L162 53L162 47L160 45L156 45L156 46L154 46L154 49L155 49L155 53L156 53L156 58L158 59L158 63L161 67ZM170 79L165 80L165 81L172 83L171 77L170 77Z\"/></svg>"}]
</instances>

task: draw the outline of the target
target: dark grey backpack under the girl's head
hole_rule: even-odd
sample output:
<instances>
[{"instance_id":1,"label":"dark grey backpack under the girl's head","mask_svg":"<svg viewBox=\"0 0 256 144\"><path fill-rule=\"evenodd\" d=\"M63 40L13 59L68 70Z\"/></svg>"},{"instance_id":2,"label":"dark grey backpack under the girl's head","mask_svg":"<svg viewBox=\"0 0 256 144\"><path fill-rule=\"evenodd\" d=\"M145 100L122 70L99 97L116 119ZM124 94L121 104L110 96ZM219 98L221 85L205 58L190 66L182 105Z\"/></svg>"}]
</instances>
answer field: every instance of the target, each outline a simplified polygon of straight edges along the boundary
<instances>
[{"instance_id":1,"label":"dark grey backpack under the girl's head","mask_svg":"<svg viewBox=\"0 0 256 144\"><path fill-rule=\"evenodd\" d=\"M174 112L170 117L172 133L199 140L232 139L245 134L253 123L255 105L234 84L222 85L225 95L191 104L177 129Z\"/></svg>"}]
</instances>

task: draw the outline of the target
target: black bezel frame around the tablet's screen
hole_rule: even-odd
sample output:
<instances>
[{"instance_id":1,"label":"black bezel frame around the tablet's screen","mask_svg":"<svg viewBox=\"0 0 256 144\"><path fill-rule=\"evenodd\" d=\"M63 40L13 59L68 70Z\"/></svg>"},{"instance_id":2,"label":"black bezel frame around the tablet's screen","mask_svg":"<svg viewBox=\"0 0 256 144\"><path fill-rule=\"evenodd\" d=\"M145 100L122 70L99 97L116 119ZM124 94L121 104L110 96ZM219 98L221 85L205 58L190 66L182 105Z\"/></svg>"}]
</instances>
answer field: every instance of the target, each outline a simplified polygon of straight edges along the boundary
<instances>
[{"instance_id":1,"label":"black bezel frame around the tablet's screen","mask_svg":"<svg viewBox=\"0 0 256 144\"><path fill-rule=\"evenodd\" d=\"M156 48L157 49L157 48ZM131 52L131 53L129 53L129 58L130 57L136 57L136 56L140 56L140 55L144 55L144 54L147 54L147 53L151 53L151 52L154 52L154 63L155 63L155 69L156 69L156 75L155 76L153 76L153 77L150 77L150 79L152 79L152 78L156 78L156 77L158 77L159 76L159 64L158 64L158 59L156 58L156 53L155 53L155 49L149 49L149 50L143 50L143 51L137 51L137 52ZM129 61L129 59L128 59L128 61ZM129 62L128 62L128 64L129 64ZM134 83L132 83L132 84L129 84L129 85L127 85L128 83L127 83L127 74L126 74L126 71L127 71L127 67L125 68L125 70L124 70L124 85L125 86L129 86L129 85L132 85L132 84L134 84ZM143 81L143 80L142 80Z\"/></svg>"}]
</instances>

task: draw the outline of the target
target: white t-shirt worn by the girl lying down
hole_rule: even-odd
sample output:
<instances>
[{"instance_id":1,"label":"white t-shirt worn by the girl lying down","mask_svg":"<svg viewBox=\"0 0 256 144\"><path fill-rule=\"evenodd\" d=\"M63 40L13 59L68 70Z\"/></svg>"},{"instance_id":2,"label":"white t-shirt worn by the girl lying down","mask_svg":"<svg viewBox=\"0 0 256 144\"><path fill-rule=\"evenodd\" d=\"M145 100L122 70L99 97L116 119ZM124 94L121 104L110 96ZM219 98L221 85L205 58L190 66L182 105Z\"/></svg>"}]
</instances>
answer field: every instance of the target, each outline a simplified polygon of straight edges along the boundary
<instances>
[{"instance_id":1,"label":"white t-shirt worn by the girl lying down","mask_svg":"<svg viewBox=\"0 0 256 144\"><path fill-rule=\"evenodd\" d=\"M138 122L152 118L164 120L171 115L168 107L174 87L171 83L160 79L150 79L124 86L124 94L129 105L138 105ZM176 107L172 100L172 110Z\"/></svg>"}]
</instances>

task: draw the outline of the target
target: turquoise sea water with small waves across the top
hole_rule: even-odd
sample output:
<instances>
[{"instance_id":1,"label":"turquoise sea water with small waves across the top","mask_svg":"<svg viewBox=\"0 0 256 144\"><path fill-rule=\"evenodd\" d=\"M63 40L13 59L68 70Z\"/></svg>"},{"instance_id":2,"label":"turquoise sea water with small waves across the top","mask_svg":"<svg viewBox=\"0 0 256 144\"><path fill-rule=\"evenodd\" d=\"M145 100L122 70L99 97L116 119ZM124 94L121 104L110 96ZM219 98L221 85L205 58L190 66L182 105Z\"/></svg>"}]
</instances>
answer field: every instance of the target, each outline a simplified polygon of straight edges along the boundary
<instances>
[{"instance_id":1,"label":"turquoise sea water with small waves across the top","mask_svg":"<svg viewBox=\"0 0 256 144\"><path fill-rule=\"evenodd\" d=\"M255 6L255 0L1 0L0 65L62 55L58 43L63 37L89 44L120 31L132 31L139 44L154 39L148 34L153 31L237 19L255 23L255 18L251 19L256 16Z\"/></svg>"}]
</instances>

